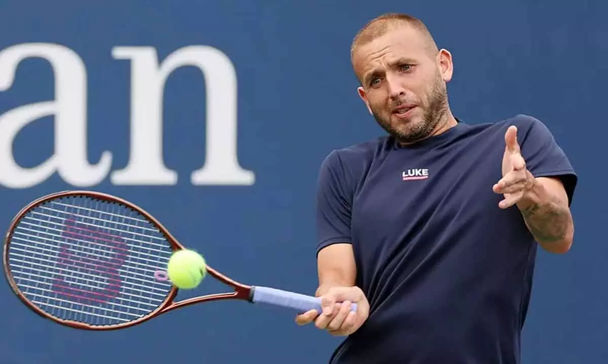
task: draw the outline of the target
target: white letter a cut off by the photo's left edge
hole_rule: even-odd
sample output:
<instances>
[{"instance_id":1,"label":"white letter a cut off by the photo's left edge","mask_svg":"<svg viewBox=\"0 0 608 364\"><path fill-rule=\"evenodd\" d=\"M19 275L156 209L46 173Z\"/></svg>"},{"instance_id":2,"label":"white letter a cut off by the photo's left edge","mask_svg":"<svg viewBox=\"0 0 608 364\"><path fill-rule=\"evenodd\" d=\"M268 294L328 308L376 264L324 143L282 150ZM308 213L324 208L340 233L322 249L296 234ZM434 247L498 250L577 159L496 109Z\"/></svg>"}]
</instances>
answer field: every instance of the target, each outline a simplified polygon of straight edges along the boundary
<instances>
[{"instance_id":1,"label":"white letter a cut off by the photo's left edge","mask_svg":"<svg viewBox=\"0 0 608 364\"><path fill-rule=\"evenodd\" d=\"M109 172L112 156L103 152L97 165L86 155L86 69L80 57L59 44L13 45L0 52L0 91L10 89L17 66L27 58L49 61L55 75L55 100L32 103L0 115L0 184L27 188L42 183L55 172L74 186L93 186ZM23 127L44 116L55 115L55 152L32 168L19 166L13 141Z\"/></svg>"}]
</instances>

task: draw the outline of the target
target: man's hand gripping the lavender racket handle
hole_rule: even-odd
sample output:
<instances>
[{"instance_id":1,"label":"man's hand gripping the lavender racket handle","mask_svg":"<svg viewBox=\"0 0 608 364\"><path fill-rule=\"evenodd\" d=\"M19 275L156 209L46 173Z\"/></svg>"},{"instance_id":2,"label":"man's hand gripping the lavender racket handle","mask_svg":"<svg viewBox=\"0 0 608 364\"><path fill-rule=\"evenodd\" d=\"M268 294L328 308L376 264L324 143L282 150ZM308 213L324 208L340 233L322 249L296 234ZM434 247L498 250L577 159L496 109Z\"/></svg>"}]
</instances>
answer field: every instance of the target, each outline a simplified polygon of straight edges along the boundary
<instances>
[{"instance_id":1,"label":"man's hand gripping the lavender racket handle","mask_svg":"<svg viewBox=\"0 0 608 364\"><path fill-rule=\"evenodd\" d=\"M332 335L344 336L355 332L370 312L370 305L359 287L334 287L321 297L323 312L311 310L295 317L298 325L314 321L317 328L326 330ZM351 312L351 303L357 304L357 311Z\"/></svg>"}]
</instances>

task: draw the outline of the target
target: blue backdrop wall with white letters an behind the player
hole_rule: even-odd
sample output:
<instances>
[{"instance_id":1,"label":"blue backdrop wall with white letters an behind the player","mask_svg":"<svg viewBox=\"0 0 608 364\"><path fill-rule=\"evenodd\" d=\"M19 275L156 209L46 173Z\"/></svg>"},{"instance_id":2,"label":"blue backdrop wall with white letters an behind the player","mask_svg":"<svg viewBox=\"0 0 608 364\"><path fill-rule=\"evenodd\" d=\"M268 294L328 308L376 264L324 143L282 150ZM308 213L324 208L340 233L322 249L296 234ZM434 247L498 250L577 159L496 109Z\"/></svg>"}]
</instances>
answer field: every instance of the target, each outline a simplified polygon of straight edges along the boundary
<instances>
[{"instance_id":1,"label":"blue backdrop wall with white letters an behind the player","mask_svg":"<svg viewBox=\"0 0 608 364\"><path fill-rule=\"evenodd\" d=\"M382 133L356 95L351 39L373 16L409 12L454 56L455 115L533 115L580 177L572 251L537 260L523 362L608 361L605 2L103 4L0 5L1 226L40 195L100 190L147 209L237 280L312 294L319 165ZM340 341L295 325L289 310L244 302L116 332L43 320L5 283L0 303L7 364L309 364Z\"/></svg>"}]
</instances>

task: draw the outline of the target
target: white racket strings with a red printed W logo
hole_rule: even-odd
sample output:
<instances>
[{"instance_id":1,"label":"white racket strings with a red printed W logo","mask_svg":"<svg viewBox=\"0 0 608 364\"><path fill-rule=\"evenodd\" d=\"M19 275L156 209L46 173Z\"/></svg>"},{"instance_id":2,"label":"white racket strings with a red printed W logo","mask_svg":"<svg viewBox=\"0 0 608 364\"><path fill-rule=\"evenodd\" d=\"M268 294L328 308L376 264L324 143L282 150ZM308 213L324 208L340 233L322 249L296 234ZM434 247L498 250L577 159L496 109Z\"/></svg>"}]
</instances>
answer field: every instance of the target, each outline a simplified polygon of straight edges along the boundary
<instances>
[{"instance_id":1,"label":"white racket strings with a red printed W logo","mask_svg":"<svg viewBox=\"0 0 608 364\"><path fill-rule=\"evenodd\" d=\"M167 298L155 279L170 244L143 215L89 197L64 197L21 218L9 244L19 290L43 311L90 325L143 317Z\"/></svg>"}]
</instances>

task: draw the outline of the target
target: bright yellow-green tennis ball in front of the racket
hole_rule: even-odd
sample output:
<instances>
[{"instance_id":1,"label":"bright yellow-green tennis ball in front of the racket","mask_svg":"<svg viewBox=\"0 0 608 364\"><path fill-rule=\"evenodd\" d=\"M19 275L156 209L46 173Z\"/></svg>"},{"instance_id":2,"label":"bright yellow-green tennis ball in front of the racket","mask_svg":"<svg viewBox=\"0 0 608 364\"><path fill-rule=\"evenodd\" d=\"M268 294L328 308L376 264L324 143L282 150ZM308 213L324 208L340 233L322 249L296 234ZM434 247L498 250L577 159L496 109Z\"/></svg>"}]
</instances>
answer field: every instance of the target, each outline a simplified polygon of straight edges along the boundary
<instances>
[{"instance_id":1,"label":"bright yellow-green tennis ball in front of the racket","mask_svg":"<svg viewBox=\"0 0 608 364\"><path fill-rule=\"evenodd\" d=\"M167 275L171 283L180 289L196 288L206 274L205 259L189 249L174 252L167 263Z\"/></svg>"}]
</instances>

